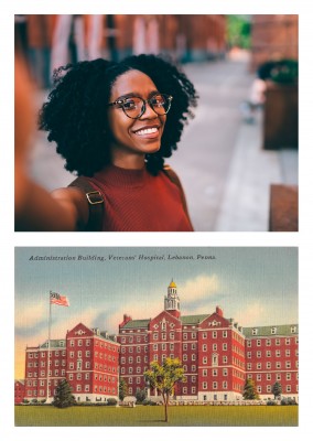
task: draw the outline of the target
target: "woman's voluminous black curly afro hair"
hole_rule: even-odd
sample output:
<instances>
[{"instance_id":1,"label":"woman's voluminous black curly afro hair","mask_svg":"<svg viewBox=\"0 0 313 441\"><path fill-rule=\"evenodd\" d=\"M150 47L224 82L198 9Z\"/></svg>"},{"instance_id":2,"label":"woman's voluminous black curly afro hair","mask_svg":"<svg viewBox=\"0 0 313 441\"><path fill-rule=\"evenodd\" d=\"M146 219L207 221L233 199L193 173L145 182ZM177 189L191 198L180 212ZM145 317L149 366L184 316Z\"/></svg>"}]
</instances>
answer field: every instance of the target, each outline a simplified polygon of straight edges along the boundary
<instances>
[{"instance_id":1,"label":"woman's voluminous black curly afro hair","mask_svg":"<svg viewBox=\"0 0 313 441\"><path fill-rule=\"evenodd\" d=\"M48 132L48 141L56 142L57 153L66 160L66 170L93 176L110 163L107 104L116 79L130 69L144 73L160 92L174 97L161 148L147 154L149 172L158 174L164 158L176 150L198 97L193 84L173 62L142 54L119 63L98 58L67 64L54 71L54 88L39 116L39 128Z\"/></svg>"}]
</instances>

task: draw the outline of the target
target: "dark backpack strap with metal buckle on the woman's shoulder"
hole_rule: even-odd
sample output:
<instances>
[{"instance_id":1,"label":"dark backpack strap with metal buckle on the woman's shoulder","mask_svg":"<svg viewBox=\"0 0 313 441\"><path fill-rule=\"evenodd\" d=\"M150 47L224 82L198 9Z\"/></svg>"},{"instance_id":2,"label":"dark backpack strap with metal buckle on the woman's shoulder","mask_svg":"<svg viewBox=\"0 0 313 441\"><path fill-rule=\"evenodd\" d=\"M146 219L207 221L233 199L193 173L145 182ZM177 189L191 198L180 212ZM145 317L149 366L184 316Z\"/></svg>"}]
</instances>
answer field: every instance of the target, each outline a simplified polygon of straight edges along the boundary
<instances>
[{"instance_id":1,"label":"dark backpack strap with metal buckle on the woman's shoulder","mask_svg":"<svg viewBox=\"0 0 313 441\"><path fill-rule=\"evenodd\" d=\"M76 178L76 180L71 182L68 186L76 186L83 190L88 201L89 217L88 223L84 229L86 232L101 232L105 208L102 194L99 191L95 190L89 183L88 179L84 176Z\"/></svg>"}]
</instances>

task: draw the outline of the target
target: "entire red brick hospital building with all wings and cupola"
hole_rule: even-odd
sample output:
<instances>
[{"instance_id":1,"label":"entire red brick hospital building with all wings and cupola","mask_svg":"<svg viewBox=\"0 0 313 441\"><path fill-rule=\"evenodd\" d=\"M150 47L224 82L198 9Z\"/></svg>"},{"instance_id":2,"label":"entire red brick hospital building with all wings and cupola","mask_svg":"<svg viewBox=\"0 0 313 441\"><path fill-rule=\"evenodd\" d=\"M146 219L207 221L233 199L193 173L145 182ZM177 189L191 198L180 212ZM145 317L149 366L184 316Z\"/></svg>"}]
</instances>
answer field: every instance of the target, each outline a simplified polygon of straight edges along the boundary
<instances>
[{"instance_id":1,"label":"entire red brick hospital building with all wings and cupola","mask_svg":"<svg viewBox=\"0 0 313 441\"><path fill-rule=\"evenodd\" d=\"M128 395L147 389L150 363L166 357L182 361L186 383L179 384L174 399L235 401L242 398L247 378L255 380L260 398L273 398L274 383L282 395L298 400L298 325L241 327L226 319L223 310L182 315L177 287L172 281L164 309L152 319L132 320L125 314L118 336L79 323L64 340L26 347L24 392L15 381L15 401L48 400L66 378L78 401L118 398L118 377L127 383Z\"/></svg>"}]
</instances>

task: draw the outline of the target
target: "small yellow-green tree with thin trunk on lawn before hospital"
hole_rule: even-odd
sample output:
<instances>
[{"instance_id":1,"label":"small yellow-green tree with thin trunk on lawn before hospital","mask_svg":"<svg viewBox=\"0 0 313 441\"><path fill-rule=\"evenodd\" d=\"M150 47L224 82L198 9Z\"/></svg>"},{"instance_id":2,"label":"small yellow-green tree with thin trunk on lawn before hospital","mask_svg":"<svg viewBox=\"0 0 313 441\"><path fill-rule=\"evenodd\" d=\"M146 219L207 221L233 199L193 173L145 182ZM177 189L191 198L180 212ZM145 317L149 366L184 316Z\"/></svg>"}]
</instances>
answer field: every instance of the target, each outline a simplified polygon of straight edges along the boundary
<instances>
[{"instance_id":1,"label":"small yellow-green tree with thin trunk on lawn before hospital","mask_svg":"<svg viewBox=\"0 0 313 441\"><path fill-rule=\"evenodd\" d=\"M165 422L168 422L168 406L170 397L174 392L174 387L179 381L186 381L181 361L179 358L165 358L162 366L158 362L152 362L150 369L144 373L144 378L153 389L159 390L162 395Z\"/></svg>"}]
</instances>

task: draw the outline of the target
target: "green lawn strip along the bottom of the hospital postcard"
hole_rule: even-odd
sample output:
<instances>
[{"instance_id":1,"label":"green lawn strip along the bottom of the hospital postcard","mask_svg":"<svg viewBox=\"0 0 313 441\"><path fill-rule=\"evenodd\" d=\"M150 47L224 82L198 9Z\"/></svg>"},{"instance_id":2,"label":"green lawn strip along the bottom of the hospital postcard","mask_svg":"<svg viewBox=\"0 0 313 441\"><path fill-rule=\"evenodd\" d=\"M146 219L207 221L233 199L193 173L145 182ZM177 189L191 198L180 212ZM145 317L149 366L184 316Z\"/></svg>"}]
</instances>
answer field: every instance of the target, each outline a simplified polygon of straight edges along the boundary
<instances>
[{"instance_id":1,"label":"green lawn strip along the bottom of the hospital postcard","mask_svg":"<svg viewBox=\"0 0 313 441\"><path fill-rule=\"evenodd\" d=\"M54 407L17 406L15 426L298 426L298 406Z\"/></svg>"}]
</instances>

